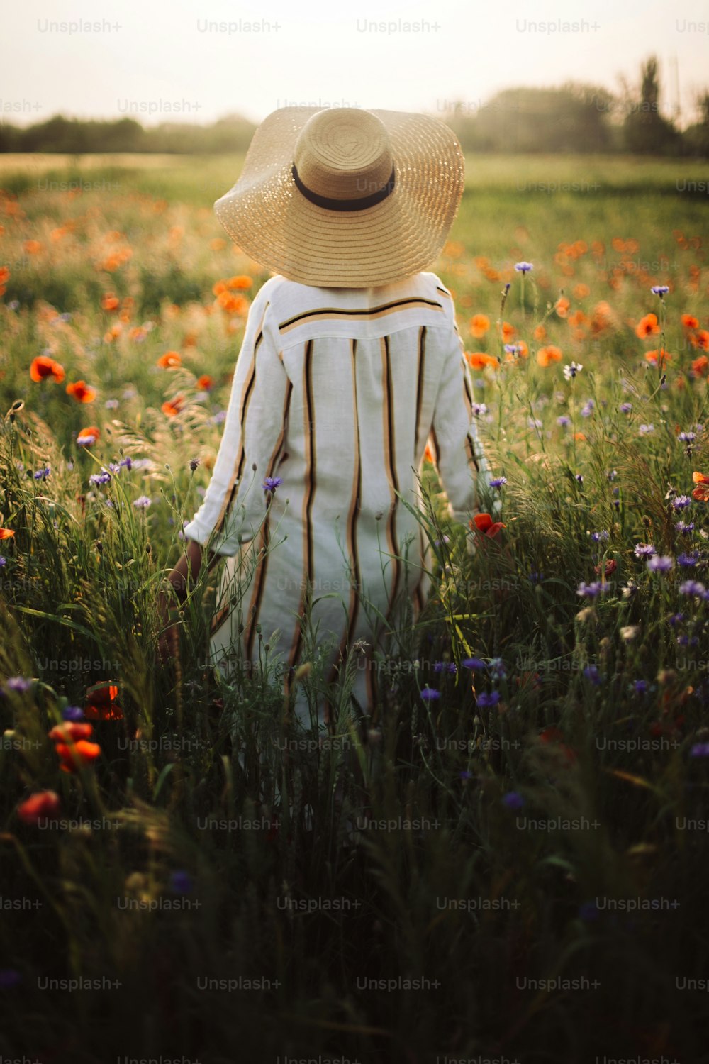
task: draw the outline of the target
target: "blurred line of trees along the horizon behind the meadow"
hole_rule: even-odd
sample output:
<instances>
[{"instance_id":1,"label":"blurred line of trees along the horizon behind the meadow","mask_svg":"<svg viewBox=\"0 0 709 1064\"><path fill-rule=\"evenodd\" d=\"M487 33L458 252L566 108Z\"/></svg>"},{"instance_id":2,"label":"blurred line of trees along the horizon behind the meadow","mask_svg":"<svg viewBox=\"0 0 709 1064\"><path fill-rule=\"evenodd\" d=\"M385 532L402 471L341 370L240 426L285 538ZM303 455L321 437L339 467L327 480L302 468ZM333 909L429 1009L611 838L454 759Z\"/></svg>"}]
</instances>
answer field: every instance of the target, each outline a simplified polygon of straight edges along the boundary
<instances>
[{"instance_id":1,"label":"blurred line of trees along the horizon behind the meadow","mask_svg":"<svg viewBox=\"0 0 709 1064\"><path fill-rule=\"evenodd\" d=\"M620 93L571 82L556 88L508 88L485 103L437 102L437 117L455 130L463 150L489 152L629 152L709 156L709 90L699 94L696 120L681 130L660 110L655 56L640 80ZM82 120L55 115L18 127L0 122L1 152L243 152L255 126L240 115L212 124L163 122L144 127L134 118Z\"/></svg>"}]
</instances>

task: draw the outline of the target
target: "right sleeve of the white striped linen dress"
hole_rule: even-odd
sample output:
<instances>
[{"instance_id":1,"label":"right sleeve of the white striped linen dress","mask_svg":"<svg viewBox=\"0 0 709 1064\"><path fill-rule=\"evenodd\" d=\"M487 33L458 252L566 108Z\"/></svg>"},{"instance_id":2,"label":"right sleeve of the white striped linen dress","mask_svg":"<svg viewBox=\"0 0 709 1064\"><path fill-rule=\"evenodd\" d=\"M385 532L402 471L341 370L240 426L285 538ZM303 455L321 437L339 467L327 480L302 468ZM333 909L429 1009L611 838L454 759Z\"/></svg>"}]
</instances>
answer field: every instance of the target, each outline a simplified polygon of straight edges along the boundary
<instances>
[{"instance_id":1,"label":"right sleeve of the white striped linen dress","mask_svg":"<svg viewBox=\"0 0 709 1064\"><path fill-rule=\"evenodd\" d=\"M471 516L479 512L480 493L489 485L490 469L477 434L470 369L452 299L449 305L448 354L438 384L431 434L450 516L468 527Z\"/></svg>"}]
</instances>

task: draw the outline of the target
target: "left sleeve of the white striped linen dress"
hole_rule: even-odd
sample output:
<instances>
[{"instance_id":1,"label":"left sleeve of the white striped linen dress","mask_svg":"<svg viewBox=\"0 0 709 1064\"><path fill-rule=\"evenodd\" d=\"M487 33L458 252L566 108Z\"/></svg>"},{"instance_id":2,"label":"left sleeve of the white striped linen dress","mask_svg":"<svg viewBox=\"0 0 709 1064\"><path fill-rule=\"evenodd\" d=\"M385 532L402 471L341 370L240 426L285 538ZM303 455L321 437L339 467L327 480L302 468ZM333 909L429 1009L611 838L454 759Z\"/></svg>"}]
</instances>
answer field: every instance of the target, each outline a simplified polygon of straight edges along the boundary
<instances>
[{"instance_id":1,"label":"left sleeve of the white striped linen dress","mask_svg":"<svg viewBox=\"0 0 709 1064\"><path fill-rule=\"evenodd\" d=\"M270 303L254 299L232 379L212 480L184 535L218 554L236 554L256 534L267 506L263 484L282 449L290 381ZM255 466L255 470L254 470Z\"/></svg>"}]
</instances>

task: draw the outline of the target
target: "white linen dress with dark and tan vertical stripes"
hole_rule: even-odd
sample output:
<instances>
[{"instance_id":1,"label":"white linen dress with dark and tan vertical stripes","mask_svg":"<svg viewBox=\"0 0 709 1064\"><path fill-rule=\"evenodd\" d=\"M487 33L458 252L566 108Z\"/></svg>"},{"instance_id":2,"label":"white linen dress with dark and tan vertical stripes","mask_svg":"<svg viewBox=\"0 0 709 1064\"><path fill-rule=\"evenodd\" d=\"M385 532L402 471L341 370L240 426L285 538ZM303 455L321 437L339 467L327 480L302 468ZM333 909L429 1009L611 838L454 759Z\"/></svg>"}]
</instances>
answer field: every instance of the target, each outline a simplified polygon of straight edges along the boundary
<instances>
[{"instance_id":1,"label":"white linen dress with dark and tan vertical stripes","mask_svg":"<svg viewBox=\"0 0 709 1064\"><path fill-rule=\"evenodd\" d=\"M366 602L391 619L409 596L416 618L429 586L424 534L396 495L422 505L415 473L427 443L450 516L467 527L488 466L453 298L435 273L370 288L278 275L263 285L212 480L184 528L226 555L209 644L222 671L237 659L256 668L268 643L288 691L317 644L333 681L364 639L353 693L371 712L382 629ZM267 477L281 478L272 493ZM310 630L301 624L308 583ZM304 704L299 693L301 719Z\"/></svg>"}]
</instances>

